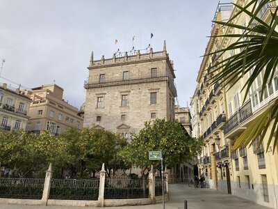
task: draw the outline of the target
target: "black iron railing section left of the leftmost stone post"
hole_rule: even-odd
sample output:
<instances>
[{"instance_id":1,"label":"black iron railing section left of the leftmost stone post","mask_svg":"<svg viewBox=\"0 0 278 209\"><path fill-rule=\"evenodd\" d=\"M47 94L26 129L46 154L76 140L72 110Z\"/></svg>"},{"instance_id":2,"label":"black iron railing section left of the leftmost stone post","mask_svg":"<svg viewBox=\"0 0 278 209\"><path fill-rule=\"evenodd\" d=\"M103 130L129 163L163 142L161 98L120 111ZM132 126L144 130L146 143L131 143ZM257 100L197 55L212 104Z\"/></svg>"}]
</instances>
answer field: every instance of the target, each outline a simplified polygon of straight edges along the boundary
<instances>
[{"instance_id":1,"label":"black iron railing section left of the leftmost stone post","mask_svg":"<svg viewBox=\"0 0 278 209\"><path fill-rule=\"evenodd\" d=\"M42 199L42 178L0 178L0 197L13 199Z\"/></svg>"}]
</instances>

